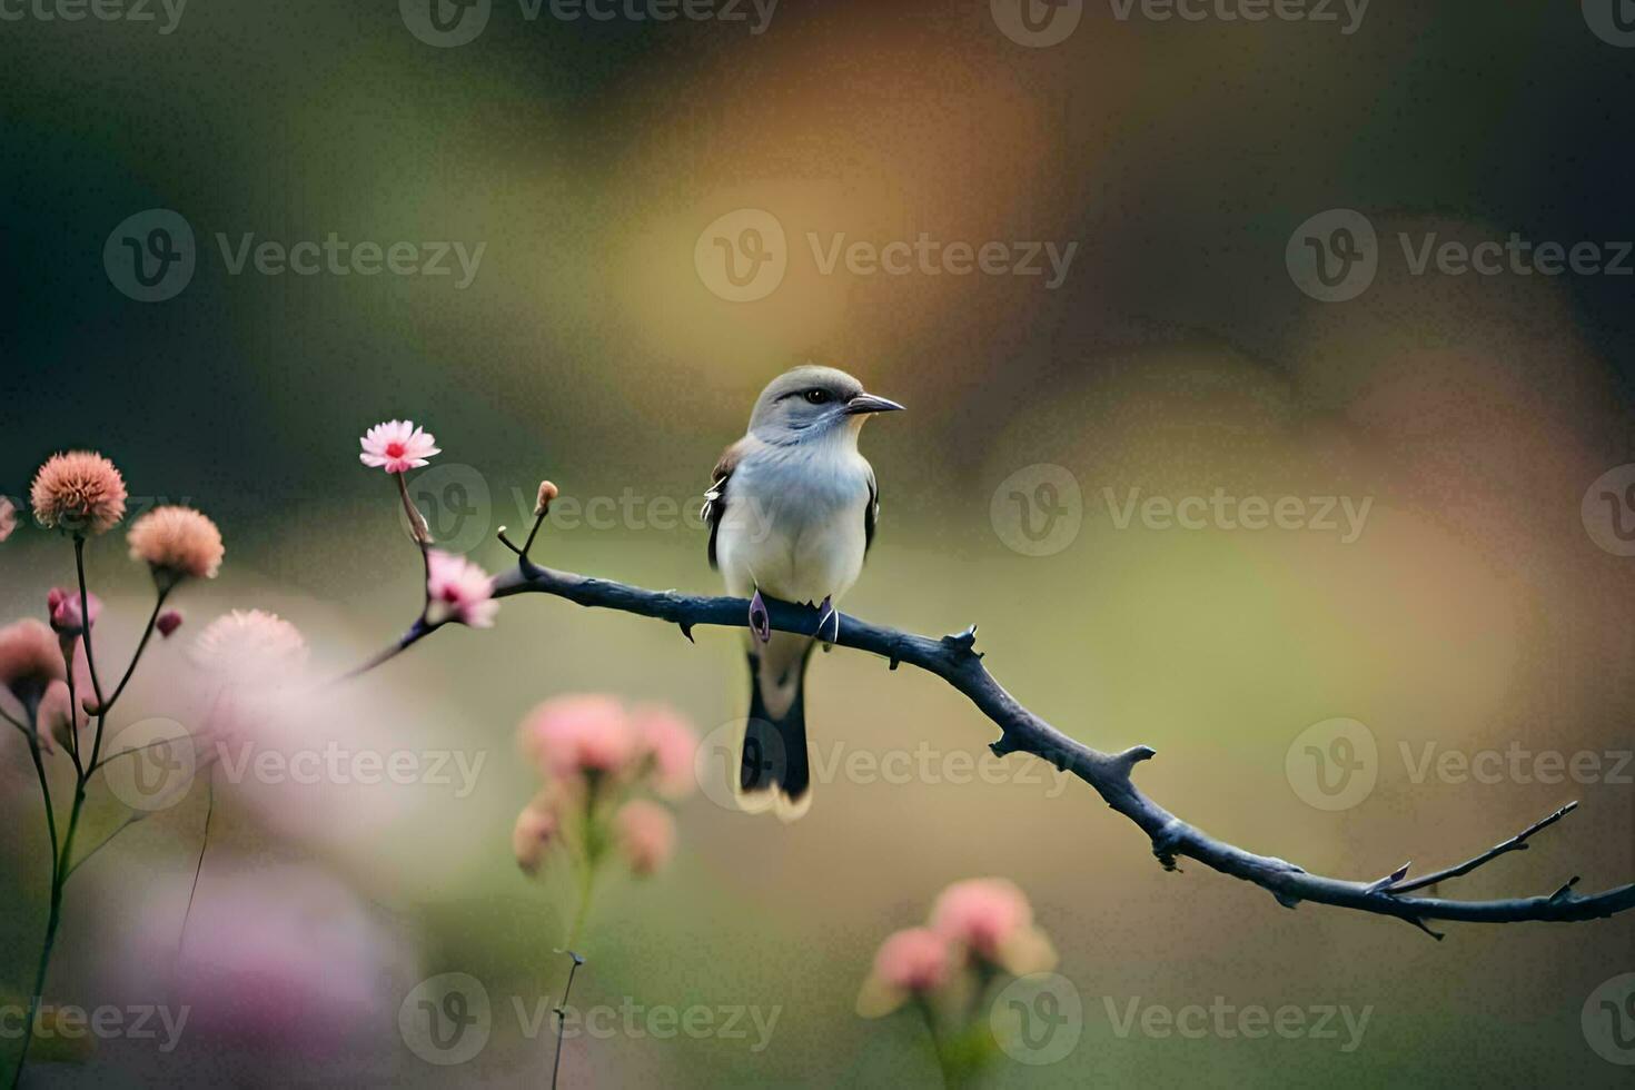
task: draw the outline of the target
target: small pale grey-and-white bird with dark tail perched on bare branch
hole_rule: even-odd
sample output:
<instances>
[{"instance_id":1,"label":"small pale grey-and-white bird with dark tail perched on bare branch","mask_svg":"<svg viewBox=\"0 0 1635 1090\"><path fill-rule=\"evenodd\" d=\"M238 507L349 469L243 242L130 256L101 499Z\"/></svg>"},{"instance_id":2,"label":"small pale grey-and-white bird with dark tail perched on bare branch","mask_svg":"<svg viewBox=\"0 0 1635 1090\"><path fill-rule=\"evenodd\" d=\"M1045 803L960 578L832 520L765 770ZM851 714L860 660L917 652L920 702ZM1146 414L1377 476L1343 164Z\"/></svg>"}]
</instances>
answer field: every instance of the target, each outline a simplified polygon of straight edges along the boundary
<instances>
[{"instance_id":1,"label":"small pale grey-and-white bird with dark tail perched on bare branch","mask_svg":"<svg viewBox=\"0 0 1635 1090\"><path fill-rule=\"evenodd\" d=\"M839 639L840 600L875 539L880 490L857 451L863 422L903 405L845 371L795 368L762 391L749 433L726 448L705 494L710 567L750 598L749 721L737 796L746 811L795 820L811 807L803 681L814 639ZM762 592L822 601L813 636L773 632Z\"/></svg>"}]
</instances>

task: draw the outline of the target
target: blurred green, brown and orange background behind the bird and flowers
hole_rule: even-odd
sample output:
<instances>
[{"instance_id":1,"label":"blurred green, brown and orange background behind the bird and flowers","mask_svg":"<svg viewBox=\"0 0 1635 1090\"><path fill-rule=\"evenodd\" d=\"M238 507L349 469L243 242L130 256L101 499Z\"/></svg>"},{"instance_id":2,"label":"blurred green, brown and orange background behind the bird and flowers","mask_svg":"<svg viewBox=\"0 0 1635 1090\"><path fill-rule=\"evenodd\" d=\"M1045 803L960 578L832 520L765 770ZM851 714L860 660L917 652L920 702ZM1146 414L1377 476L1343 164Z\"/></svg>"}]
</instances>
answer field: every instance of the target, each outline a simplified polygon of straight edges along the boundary
<instances>
[{"instance_id":1,"label":"blurred green, brown and orange background behind the bird and flowers","mask_svg":"<svg viewBox=\"0 0 1635 1090\"><path fill-rule=\"evenodd\" d=\"M1627 781L1416 783L1400 757L1632 747L1635 561L1597 547L1581 516L1591 482L1630 461L1632 281L1411 276L1395 247L1396 232L1635 239L1622 121L1635 52L1597 39L1576 5L1377 3L1354 34L1120 21L1091 5L1068 41L1032 49L983 3L783 0L762 34L530 21L495 3L476 41L445 49L391 0L195 0L170 34L5 21L0 57L0 492L23 495L56 449L93 446L134 497L186 498L227 539L222 577L186 592L188 628L144 667L123 719L198 714L177 644L229 606L280 611L334 670L412 619L419 559L389 482L356 462L356 436L392 417L435 431L443 476L425 495L446 510L433 521L489 569L508 556L492 531L523 525L551 477L580 502L636 497L646 521L553 525L543 562L716 587L705 534L651 515L692 508L759 389L811 358L911 409L863 436L885 511L849 611L930 634L979 623L988 665L1030 708L1102 748L1154 745L1140 773L1154 799L1308 869L1444 866L1576 797L1532 851L1442 892L1635 879ZM110 283L103 245L150 208L186 217L199 257L180 296L142 304ZM693 250L739 208L775 214L791 258L775 293L736 304L711 294ZM1331 208L1367 214L1383 245L1377 281L1344 304L1301 294L1283 260L1297 226ZM922 230L1077 252L1048 291L1024 276L824 276L804 243ZM486 250L463 291L232 276L217 232ZM1050 556L1010 547L991 516L1001 482L1037 464L1082 495L1081 529ZM1342 544L1120 528L1104 495L1218 487L1372 508ZM3 616L38 616L70 564L34 528L0 546ZM90 572L113 608L101 641L124 649L146 577L118 534ZM837 652L811 683L824 753L929 742L979 757L992 740L963 698L911 670ZM477 1059L438 1069L396 1026L397 1000L430 974L473 974L497 1007L561 985L561 899L510 858L536 783L515 757L518 719L553 695L610 691L669 701L703 734L742 714L744 688L732 634L688 646L558 600L507 601L492 632L440 634L306 726L486 753L476 789L221 801L199 886L208 899L217 860L347 886L391 940L370 982L383 1016L319 1057L201 1034L172 1054L105 1043L31 1079L540 1085L548 1036L499 1018ZM1285 752L1341 716L1377 735L1378 783L1324 812L1292 789ZM46 861L13 742L0 979L21 992ZM1030 894L1086 1007L1069 1057L1002 1061L992 1085L1627 1079L1579 1012L1635 969L1628 918L1455 925L1434 943L1380 917L1287 912L1200 866L1162 873L1091 791L1020 781L1030 763L1010 758L1001 784L842 775L791 827L693 796L674 866L600 900L576 1000L782 1005L772 1044L577 1041L564 1083L934 1082L912 1018L862 1021L852 1003L880 938L979 874ZM128 964L132 905L180 922L203 809L191 794L75 878L51 995L95 1005L160 979ZM96 819L111 827L118 807ZM1275 1034L1120 1038L1105 1010L1216 997L1373 1013L1341 1052Z\"/></svg>"}]
</instances>

